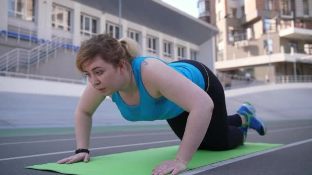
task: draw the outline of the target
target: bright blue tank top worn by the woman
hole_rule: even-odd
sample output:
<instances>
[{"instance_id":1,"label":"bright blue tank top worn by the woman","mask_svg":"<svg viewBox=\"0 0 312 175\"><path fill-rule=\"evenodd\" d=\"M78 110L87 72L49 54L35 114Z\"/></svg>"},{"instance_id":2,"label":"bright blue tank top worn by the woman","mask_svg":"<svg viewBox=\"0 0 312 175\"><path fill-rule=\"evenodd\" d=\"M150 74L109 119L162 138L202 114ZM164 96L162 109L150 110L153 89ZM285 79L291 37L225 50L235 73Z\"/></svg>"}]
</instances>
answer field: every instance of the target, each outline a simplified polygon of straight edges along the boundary
<instances>
[{"instance_id":1,"label":"bright blue tank top worn by the woman","mask_svg":"<svg viewBox=\"0 0 312 175\"><path fill-rule=\"evenodd\" d=\"M129 121L153 121L171 119L183 113L183 108L171 102L164 96L155 99L148 94L141 79L141 63L146 58L154 57L136 57L131 63L135 82L139 89L139 104L136 106L126 104L121 98L119 92L112 95L112 101L116 103L122 116ZM199 69L193 65L185 62L166 63L163 60L161 61L196 83L201 89L205 89L203 75Z\"/></svg>"}]
</instances>

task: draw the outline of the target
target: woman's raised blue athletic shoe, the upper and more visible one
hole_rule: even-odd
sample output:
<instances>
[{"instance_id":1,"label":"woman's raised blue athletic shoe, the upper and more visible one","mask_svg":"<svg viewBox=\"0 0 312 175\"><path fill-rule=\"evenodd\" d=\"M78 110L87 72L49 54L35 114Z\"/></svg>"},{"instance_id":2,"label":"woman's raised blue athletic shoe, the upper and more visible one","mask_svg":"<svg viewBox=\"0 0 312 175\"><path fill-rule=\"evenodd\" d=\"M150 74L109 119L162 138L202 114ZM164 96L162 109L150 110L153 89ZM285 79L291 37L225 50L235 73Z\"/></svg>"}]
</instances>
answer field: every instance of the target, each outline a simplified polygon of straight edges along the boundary
<instances>
[{"instance_id":1,"label":"woman's raised blue athletic shoe, the upper and more visible one","mask_svg":"<svg viewBox=\"0 0 312 175\"><path fill-rule=\"evenodd\" d=\"M264 122L256 116L255 107L253 107L250 103L244 102L237 113L246 117L245 127L255 129L261 136L266 135L266 126Z\"/></svg>"}]
</instances>

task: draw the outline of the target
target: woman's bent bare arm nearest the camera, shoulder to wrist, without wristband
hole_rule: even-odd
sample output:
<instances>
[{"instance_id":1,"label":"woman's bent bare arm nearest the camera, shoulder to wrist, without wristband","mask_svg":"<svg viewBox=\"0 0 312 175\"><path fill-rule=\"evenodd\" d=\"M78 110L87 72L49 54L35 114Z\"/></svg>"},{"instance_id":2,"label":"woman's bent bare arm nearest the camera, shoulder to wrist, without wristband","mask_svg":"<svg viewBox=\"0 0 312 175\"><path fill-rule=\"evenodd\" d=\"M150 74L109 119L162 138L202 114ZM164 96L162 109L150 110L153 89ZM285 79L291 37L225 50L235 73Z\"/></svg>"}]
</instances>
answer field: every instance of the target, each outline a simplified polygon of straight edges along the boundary
<instances>
[{"instance_id":1,"label":"woman's bent bare arm nearest the camera, shoulder to wrist, without wristband","mask_svg":"<svg viewBox=\"0 0 312 175\"><path fill-rule=\"evenodd\" d=\"M206 134L213 102L198 85L168 65L155 59L145 61L147 63L141 65L145 87L154 87L163 96L189 112L183 140L176 157L188 164Z\"/></svg>"}]
</instances>

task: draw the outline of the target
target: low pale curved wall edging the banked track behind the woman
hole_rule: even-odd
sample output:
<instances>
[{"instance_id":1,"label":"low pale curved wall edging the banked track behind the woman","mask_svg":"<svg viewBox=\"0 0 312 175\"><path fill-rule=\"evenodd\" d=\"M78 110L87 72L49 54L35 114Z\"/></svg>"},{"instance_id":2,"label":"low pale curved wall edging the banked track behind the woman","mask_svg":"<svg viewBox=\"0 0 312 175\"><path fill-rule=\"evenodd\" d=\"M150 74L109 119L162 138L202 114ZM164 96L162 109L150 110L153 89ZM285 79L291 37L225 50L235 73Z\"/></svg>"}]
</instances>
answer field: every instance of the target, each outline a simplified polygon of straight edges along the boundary
<instances>
[{"instance_id":1,"label":"low pale curved wall edging the banked track behind the woman","mask_svg":"<svg viewBox=\"0 0 312 175\"><path fill-rule=\"evenodd\" d=\"M25 78L12 78L0 76L0 92L43 94L81 97L85 90L85 85L70 84L53 81L32 80ZM257 93L263 91L280 89L312 89L312 83L287 83L250 86L249 88L226 90L226 97L235 97L244 94ZM107 97L108 98L108 97ZM110 98L108 98L110 99Z\"/></svg>"}]
</instances>

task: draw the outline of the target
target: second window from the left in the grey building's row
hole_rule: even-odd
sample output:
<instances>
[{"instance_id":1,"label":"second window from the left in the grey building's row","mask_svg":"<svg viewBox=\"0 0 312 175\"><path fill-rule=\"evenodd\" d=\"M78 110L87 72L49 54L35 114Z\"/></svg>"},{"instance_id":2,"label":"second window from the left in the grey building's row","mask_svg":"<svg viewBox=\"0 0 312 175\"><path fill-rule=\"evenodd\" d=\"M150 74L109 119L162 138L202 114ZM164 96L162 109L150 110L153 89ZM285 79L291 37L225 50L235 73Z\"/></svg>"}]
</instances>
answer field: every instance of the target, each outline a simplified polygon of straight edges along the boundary
<instances>
[{"instance_id":1,"label":"second window from the left in the grey building's row","mask_svg":"<svg viewBox=\"0 0 312 175\"><path fill-rule=\"evenodd\" d=\"M65 31L70 31L70 10L53 5L52 27Z\"/></svg>"}]
</instances>

